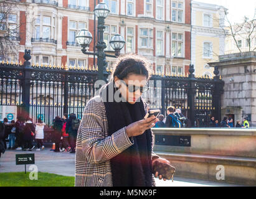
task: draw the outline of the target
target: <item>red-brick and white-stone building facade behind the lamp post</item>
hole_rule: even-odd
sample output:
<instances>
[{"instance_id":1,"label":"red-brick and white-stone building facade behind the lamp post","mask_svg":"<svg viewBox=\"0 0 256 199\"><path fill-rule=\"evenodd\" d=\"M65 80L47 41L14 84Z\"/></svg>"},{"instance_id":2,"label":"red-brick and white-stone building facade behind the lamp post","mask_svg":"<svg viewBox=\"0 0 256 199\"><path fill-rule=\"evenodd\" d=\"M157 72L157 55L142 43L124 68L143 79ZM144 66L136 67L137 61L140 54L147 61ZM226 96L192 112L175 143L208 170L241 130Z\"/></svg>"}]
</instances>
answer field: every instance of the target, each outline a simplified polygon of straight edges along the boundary
<instances>
[{"instance_id":1,"label":"red-brick and white-stone building facade behind the lamp post","mask_svg":"<svg viewBox=\"0 0 256 199\"><path fill-rule=\"evenodd\" d=\"M105 0L105 3L110 9L104 33L108 53L113 53L109 45L111 36L118 33L126 40L121 54L147 57L154 73L188 73L191 0ZM75 41L81 29L88 29L92 35L97 33L93 0L21 0L16 5L11 14L19 27L19 53L10 55L10 59L24 62L24 50L28 49L34 64L93 65L93 56L84 55ZM107 58L107 62L111 67L115 58Z\"/></svg>"}]
</instances>

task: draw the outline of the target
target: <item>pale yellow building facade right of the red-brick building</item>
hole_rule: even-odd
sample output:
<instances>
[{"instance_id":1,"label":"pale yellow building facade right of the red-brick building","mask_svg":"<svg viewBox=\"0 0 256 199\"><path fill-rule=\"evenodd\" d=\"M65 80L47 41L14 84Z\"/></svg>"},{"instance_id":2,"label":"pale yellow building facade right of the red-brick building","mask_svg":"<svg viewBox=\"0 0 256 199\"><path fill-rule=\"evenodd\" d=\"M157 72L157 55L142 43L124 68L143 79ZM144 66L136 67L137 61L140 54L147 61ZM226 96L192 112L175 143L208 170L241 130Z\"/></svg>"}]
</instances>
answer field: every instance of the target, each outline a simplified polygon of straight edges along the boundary
<instances>
[{"instance_id":1,"label":"pale yellow building facade right of the red-brick building","mask_svg":"<svg viewBox=\"0 0 256 199\"><path fill-rule=\"evenodd\" d=\"M191 63L197 76L212 78L214 69L207 63L224 54L226 10L223 6L192 1Z\"/></svg>"}]
</instances>

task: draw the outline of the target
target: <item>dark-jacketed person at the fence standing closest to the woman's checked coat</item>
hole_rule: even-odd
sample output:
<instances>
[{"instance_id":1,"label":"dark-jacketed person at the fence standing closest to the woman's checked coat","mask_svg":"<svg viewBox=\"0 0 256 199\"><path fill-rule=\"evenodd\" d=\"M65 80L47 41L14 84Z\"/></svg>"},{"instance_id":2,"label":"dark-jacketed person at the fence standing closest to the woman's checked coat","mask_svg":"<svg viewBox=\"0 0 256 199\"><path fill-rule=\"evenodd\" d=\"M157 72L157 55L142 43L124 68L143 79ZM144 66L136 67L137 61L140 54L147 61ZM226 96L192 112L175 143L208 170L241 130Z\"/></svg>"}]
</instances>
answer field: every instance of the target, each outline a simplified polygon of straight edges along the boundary
<instances>
[{"instance_id":1,"label":"dark-jacketed person at the fence standing closest to the woman's checked coat","mask_svg":"<svg viewBox=\"0 0 256 199\"><path fill-rule=\"evenodd\" d=\"M69 143L71 147L70 153L75 152L75 143L77 141L77 130L73 130L72 128L72 123L75 119L77 119L77 116L75 116L75 113L71 113L66 124L66 132L69 134Z\"/></svg>"}]
</instances>

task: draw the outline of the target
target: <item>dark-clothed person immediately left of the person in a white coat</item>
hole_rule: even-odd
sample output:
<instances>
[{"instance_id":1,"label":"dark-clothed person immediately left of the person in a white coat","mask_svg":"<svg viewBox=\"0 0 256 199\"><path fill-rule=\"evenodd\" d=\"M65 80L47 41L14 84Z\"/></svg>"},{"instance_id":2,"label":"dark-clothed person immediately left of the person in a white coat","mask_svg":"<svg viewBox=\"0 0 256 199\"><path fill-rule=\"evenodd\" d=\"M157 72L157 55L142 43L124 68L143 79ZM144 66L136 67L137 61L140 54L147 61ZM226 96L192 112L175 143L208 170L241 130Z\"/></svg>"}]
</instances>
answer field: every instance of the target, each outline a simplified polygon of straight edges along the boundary
<instances>
[{"instance_id":1,"label":"dark-clothed person immediately left of the person in a white coat","mask_svg":"<svg viewBox=\"0 0 256 199\"><path fill-rule=\"evenodd\" d=\"M23 149L22 150L32 150L35 146L33 146L32 141L35 134L35 126L32 122L31 118L28 118L25 123L24 127L24 134L23 134Z\"/></svg>"}]
</instances>

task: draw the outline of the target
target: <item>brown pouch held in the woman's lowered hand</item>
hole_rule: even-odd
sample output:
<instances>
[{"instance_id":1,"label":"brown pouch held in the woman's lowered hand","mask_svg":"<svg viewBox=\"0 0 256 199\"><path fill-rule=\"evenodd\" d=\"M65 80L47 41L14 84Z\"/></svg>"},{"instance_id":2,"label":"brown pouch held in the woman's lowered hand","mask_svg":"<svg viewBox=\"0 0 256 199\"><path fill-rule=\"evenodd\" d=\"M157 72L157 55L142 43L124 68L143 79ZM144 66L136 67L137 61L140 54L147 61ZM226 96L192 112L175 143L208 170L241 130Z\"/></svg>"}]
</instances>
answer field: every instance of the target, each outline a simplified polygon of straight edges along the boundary
<instances>
[{"instance_id":1,"label":"brown pouch held in the woman's lowered hand","mask_svg":"<svg viewBox=\"0 0 256 199\"><path fill-rule=\"evenodd\" d=\"M156 161L153 164L153 172L154 174L158 172L158 175L162 175L163 178L166 178L167 180L171 180L171 178L173 178L173 175L175 173L175 167L169 164Z\"/></svg>"}]
</instances>

